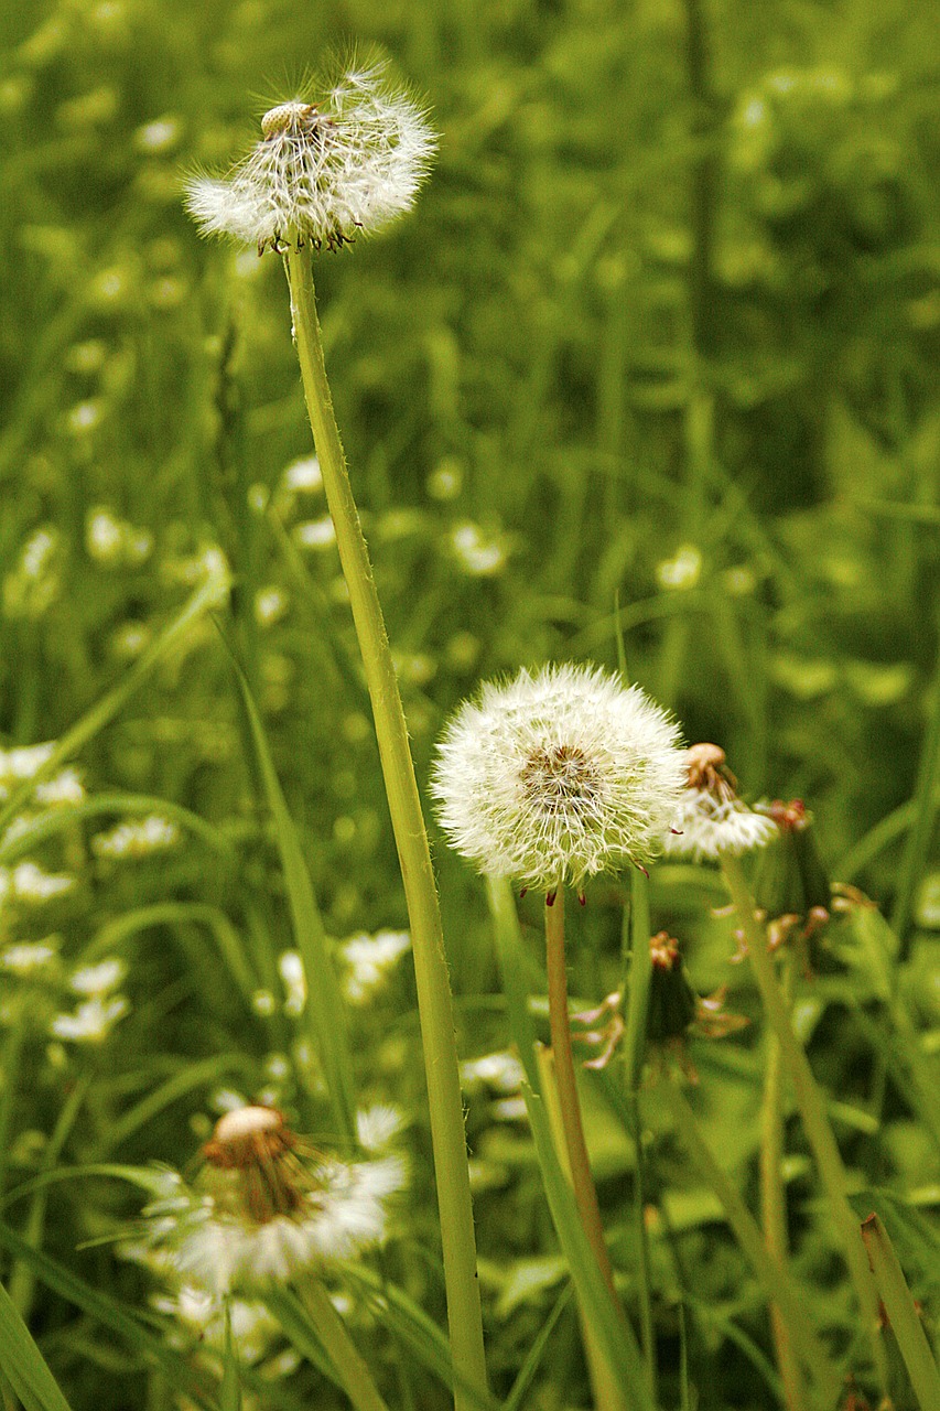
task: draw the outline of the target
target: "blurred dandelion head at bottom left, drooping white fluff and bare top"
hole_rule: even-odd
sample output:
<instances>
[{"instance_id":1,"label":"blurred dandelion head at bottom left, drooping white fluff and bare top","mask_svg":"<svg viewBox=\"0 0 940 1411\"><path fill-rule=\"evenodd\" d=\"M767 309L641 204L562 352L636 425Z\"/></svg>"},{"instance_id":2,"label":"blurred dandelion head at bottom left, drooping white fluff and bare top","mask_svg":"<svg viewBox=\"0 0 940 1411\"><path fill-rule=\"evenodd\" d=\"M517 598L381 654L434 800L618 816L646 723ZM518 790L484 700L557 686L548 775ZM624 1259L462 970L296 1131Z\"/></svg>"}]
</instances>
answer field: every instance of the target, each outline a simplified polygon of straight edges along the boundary
<instances>
[{"instance_id":1,"label":"blurred dandelion head at bottom left, drooping white fluff and bare top","mask_svg":"<svg viewBox=\"0 0 940 1411\"><path fill-rule=\"evenodd\" d=\"M144 1211L147 1243L217 1297L287 1283L380 1243L388 1197L404 1185L398 1157L326 1156L275 1108L227 1112L202 1156L192 1187L175 1177Z\"/></svg>"}]
</instances>

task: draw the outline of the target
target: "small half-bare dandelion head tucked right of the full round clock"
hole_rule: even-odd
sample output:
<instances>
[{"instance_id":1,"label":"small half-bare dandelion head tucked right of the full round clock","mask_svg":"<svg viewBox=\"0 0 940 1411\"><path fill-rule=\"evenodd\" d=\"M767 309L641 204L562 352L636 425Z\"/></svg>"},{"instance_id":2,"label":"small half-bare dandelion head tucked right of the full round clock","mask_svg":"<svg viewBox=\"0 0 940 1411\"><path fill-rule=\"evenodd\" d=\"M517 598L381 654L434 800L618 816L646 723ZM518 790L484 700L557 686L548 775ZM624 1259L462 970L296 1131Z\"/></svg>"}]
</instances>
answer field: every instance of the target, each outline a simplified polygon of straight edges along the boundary
<instances>
[{"instance_id":1,"label":"small half-bare dandelion head tucked right of the full round clock","mask_svg":"<svg viewBox=\"0 0 940 1411\"><path fill-rule=\"evenodd\" d=\"M718 862L723 854L741 856L776 837L771 820L738 799L720 745L693 745L686 751L686 769L675 832L666 840L670 856Z\"/></svg>"}]
</instances>

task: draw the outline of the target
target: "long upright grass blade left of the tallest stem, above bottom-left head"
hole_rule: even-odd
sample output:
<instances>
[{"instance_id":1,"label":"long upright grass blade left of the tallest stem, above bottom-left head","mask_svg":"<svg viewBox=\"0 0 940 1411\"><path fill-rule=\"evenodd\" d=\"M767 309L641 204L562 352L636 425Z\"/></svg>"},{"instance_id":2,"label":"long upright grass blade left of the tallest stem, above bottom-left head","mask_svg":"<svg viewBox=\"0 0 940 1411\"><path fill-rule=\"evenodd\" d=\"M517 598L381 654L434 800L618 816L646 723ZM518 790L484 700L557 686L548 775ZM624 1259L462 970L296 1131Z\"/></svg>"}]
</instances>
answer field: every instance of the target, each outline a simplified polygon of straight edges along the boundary
<instances>
[{"instance_id":1,"label":"long upright grass blade left of the tallest stem, above bottom-left head","mask_svg":"<svg viewBox=\"0 0 940 1411\"><path fill-rule=\"evenodd\" d=\"M294 923L294 938L306 974L306 1009L311 1038L323 1064L323 1075L333 1106L337 1134L356 1144L356 1084L353 1057L346 1027L346 1006L326 945L326 933L313 896L311 873L294 818L271 759L271 749L261 717L251 697L244 673L233 663L258 756L264 792L274 817L274 828L284 868L284 880Z\"/></svg>"}]
</instances>

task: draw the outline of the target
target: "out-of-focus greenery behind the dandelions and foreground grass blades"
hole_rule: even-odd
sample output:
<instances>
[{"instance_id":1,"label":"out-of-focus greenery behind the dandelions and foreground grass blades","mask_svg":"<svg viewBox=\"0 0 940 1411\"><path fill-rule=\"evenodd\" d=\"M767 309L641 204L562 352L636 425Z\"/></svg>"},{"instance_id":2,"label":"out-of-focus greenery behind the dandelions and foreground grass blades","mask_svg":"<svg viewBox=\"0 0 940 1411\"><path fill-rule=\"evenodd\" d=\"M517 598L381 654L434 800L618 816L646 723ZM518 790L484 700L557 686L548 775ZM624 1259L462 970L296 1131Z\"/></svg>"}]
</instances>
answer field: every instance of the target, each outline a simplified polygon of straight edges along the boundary
<instances>
[{"instance_id":1,"label":"out-of-focus greenery behind the dandelions and foreground grass blades","mask_svg":"<svg viewBox=\"0 0 940 1411\"><path fill-rule=\"evenodd\" d=\"M76 1094L54 1154L68 1165L185 1165L220 1088L303 1106L271 1058L292 1036L264 958L292 937L223 638L260 703L329 934L405 924L326 509L285 481L311 440L284 274L271 254L200 244L181 205L182 175L239 155L268 100L292 96L327 52L380 45L428 96L439 158L415 213L318 260L316 282L419 780L445 715L481 677L550 659L615 666L620 605L629 673L686 738L720 742L749 797L803 797L834 876L903 913L899 954L881 931L875 943L888 989L823 979L802 1020L848 1105L848 1163L867 1192L895 1191L882 1215L936 1318L936 1233L930 1246L924 1212L903 1199L929 1205L933 1189L936 1202L937 1147L878 1040L888 1006L903 1005L915 1029L933 1027L930 1061L940 1026L936 785L923 770L909 806L940 708L934 4L61 0L7 4L0 27L3 744L59 738L119 684L207 549L234 574L222 634L209 619L191 632L78 763L89 794L192 810L236 861L198 834L112 861L89 851L110 821L92 818L31 854L79 879L68 895L41 912L4 903L4 941L56 933L72 967L119 951L133 1006L103 1046L49 1051L42 1007L30 999L27 1022L4 1002L7 1189L48 1164ZM470 1057L508 1041L493 940L478 882L440 840L436 862ZM734 1006L757 1013L747 975L727 968L727 923L703 910L721 900L710 873L653 876L658 924L689 943L697 988L730 979ZM597 1002L618 976L620 910L608 886L589 902L572 985ZM538 989L536 941L531 954ZM274 1015L251 1006L254 983L278 995ZM415 1191L387 1271L440 1321L409 985L402 967L354 1009L356 1050L363 1091L412 1122ZM696 1051L700 1105L747 1189L758 1037L717 1053ZM632 1153L589 1101L622 1245ZM469 1132L505 1395L563 1267L524 1126L471 1096ZM797 1263L840 1338L848 1292L799 1132L790 1144ZM649 1197L651 1219L662 1232L666 1212L689 1271L700 1404L769 1405L759 1294L679 1157L662 1132L669 1189ZM49 1188L32 1236L143 1305L143 1276L110 1245L76 1252L138 1204L75 1178ZM23 1229L30 1209L18 1199L6 1218ZM679 1278L659 1233L665 1404L679 1394ZM61 1292L40 1283L23 1307L76 1411L172 1404L147 1359L109 1345ZM366 1336L395 1404L445 1404L391 1336ZM584 1404L570 1305L552 1338L555 1370L536 1373L531 1404ZM308 1373L277 1404L301 1404Z\"/></svg>"}]
</instances>

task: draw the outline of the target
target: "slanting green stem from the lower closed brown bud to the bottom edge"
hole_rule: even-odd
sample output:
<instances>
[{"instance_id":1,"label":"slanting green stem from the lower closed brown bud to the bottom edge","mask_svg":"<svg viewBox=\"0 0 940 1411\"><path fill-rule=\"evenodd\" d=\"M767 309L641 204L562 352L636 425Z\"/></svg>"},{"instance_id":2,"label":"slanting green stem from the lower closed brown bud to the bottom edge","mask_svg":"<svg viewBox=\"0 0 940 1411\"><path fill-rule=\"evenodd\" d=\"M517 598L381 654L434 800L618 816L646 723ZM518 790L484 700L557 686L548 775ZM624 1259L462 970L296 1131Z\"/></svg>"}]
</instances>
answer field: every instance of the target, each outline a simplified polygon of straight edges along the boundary
<instances>
[{"instance_id":1,"label":"slanting green stem from the lower closed brown bud to the bottom edge","mask_svg":"<svg viewBox=\"0 0 940 1411\"><path fill-rule=\"evenodd\" d=\"M799 1348L800 1356L817 1384L819 1403L821 1405L831 1405L838 1393L838 1379L830 1367L826 1352L800 1307L789 1274L768 1253L757 1221L738 1195L728 1174L711 1154L711 1149L699 1129L696 1115L679 1085L670 1079L659 1082L656 1094L665 1098L682 1141L687 1147L699 1171L718 1197L734 1237L751 1261L751 1267L768 1301L776 1302L781 1316L786 1319L790 1342L795 1348Z\"/></svg>"}]
</instances>

